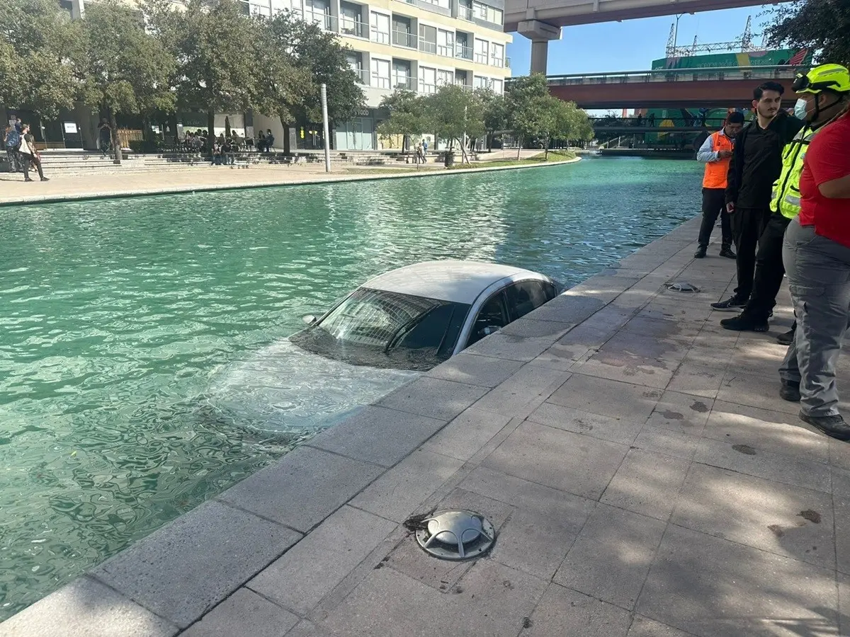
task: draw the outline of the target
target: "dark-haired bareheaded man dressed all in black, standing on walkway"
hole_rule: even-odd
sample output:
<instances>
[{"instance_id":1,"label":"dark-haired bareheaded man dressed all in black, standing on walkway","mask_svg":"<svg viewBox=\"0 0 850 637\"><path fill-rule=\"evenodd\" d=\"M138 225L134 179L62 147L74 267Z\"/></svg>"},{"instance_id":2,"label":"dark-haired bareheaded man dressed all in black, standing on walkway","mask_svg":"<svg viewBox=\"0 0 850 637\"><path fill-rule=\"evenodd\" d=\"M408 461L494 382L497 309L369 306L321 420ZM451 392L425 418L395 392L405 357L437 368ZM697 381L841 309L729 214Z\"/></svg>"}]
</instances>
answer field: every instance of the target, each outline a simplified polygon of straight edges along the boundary
<instances>
[{"instance_id":1,"label":"dark-haired bareheaded man dressed all in black, standing on walkway","mask_svg":"<svg viewBox=\"0 0 850 637\"><path fill-rule=\"evenodd\" d=\"M782 149L803 122L779 107L785 87L764 82L753 91L756 118L735 139L726 185L726 209L732 216L732 234L738 255L738 287L726 301L711 303L721 312L740 312L750 300L756 271L758 238L770 219L774 182L782 171Z\"/></svg>"}]
</instances>

